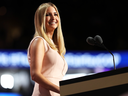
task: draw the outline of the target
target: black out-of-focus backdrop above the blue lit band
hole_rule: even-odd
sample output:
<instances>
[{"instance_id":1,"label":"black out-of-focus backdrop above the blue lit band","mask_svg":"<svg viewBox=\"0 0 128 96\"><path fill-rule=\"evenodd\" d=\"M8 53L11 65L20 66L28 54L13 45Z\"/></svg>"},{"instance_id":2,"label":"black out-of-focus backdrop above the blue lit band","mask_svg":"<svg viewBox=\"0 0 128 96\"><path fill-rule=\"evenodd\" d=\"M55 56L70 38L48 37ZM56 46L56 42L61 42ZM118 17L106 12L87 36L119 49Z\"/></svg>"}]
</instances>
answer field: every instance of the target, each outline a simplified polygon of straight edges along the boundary
<instances>
[{"instance_id":1,"label":"black out-of-focus backdrop above the blue lit band","mask_svg":"<svg viewBox=\"0 0 128 96\"><path fill-rule=\"evenodd\" d=\"M1 0L0 49L27 49L38 6L50 0ZM128 49L127 0L51 0L59 10L67 50L104 50L86 43L100 35L110 50Z\"/></svg>"}]
</instances>

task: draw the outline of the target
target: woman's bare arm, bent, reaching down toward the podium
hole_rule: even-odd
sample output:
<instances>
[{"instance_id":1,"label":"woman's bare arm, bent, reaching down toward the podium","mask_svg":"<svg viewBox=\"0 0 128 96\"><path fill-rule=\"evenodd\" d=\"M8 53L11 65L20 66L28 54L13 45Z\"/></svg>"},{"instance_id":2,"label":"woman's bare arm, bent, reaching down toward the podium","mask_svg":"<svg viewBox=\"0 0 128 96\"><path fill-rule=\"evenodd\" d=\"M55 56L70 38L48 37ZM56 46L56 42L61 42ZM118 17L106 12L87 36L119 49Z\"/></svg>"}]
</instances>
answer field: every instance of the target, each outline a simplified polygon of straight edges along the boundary
<instances>
[{"instance_id":1,"label":"woman's bare arm, bent, reaching down toward the podium","mask_svg":"<svg viewBox=\"0 0 128 96\"><path fill-rule=\"evenodd\" d=\"M57 85L51 83L41 74L42 62L45 54L44 42L41 38L35 39L30 47L31 65L30 74L32 80L40 84L42 87L60 93Z\"/></svg>"}]
</instances>

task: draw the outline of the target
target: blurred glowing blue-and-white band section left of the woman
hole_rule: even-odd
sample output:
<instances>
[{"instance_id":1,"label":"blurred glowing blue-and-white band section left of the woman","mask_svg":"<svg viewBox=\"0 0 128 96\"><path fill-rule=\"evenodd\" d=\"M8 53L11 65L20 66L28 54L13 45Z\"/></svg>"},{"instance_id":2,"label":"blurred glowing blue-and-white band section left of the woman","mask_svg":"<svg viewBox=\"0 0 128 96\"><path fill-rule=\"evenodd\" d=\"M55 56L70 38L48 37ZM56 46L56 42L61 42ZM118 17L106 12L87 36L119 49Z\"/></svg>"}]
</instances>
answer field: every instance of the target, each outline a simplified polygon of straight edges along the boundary
<instances>
[{"instance_id":1,"label":"blurred glowing blue-and-white band section left of the woman","mask_svg":"<svg viewBox=\"0 0 128 96\"><path fill-rule=\"evenodd\" d=\"M29 67L26 51L0 51L0 67Z\"/></svg>"}]
</instances>

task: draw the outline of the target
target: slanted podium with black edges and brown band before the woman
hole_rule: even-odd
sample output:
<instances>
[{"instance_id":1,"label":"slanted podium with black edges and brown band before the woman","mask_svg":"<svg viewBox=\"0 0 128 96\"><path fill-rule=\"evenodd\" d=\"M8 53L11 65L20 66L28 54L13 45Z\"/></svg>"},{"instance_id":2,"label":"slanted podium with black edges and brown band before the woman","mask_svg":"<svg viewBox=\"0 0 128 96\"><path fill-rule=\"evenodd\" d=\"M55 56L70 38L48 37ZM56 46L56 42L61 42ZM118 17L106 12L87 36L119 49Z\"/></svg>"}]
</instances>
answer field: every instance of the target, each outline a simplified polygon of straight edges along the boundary
<instances>
[{"instance_id":1,"label":"slanted podium with black edges and brown band before the woman","mask_svg":"<svg viewBox=\"0 0 128 96\"><path fill-rule=\"evenodd\" d=\"M128 67L60 81L61 96L128 96Z\"/></svg>"}]
</instances>

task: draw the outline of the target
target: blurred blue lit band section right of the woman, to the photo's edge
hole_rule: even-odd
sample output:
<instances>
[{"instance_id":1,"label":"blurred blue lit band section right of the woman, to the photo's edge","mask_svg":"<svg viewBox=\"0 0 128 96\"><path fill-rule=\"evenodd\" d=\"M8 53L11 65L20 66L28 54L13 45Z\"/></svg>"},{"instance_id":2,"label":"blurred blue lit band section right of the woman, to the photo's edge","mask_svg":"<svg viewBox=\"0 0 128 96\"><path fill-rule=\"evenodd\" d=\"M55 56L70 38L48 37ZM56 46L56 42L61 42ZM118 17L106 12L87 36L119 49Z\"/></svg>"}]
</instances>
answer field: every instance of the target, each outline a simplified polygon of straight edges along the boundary
<instances>
[{"instance_id":1,"label":"blurred blue lit band section right of the woman, to the photo's edge","mask_svg":"<svg viewBox=\"0 0 128 96\"><path fill-rule=\"evenodd\" d=\"M116 68L128 67L128 51L113 51ZM113 57L107 51L67 51L69 68L113 68Z\"/></svg>"}]
</instances>

